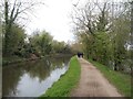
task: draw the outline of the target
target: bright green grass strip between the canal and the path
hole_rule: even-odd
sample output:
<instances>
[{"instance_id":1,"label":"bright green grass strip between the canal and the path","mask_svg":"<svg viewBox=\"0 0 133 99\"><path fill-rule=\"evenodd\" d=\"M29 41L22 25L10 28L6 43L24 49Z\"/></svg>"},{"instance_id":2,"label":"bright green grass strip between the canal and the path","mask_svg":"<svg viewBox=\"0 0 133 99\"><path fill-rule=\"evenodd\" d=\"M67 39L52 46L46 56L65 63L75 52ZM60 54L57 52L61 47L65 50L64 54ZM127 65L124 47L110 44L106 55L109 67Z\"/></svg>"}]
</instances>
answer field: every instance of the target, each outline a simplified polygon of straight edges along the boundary
<instances>
[{"instance_id":1,"label":"bright green grass strip between the canal and the path","mask_svg":"<svg viewBox=\"0 0 133 99\"><path fill-rule=\"evenodd\" d=\"M63 76L61 76L61 78L57 82L54 82L53 86L49 88L47 92L40 98L68 97L71 90L76 86L80 79L80 64L78 62L78 58L74 56L70 61L68 72Z\"/></svg>"}]
</instances>

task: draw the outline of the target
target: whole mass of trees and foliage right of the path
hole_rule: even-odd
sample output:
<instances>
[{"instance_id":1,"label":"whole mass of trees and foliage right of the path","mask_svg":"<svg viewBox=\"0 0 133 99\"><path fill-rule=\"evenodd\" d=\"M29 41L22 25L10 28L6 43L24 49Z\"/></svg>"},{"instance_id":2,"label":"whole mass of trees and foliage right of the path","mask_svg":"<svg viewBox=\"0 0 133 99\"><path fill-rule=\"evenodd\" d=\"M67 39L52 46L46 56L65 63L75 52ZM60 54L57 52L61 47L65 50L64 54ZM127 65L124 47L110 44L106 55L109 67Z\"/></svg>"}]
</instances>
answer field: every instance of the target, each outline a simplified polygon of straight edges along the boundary
<instances>
[{"instance_id":1,"label":"whole mass of trees and foliage right of the path","mask_svg":"<svg viewBox=\"0 0 133 99\"><path fill-rule=\"evenodd\" d=\"M131 45L130 8L130 2L106 1L86 2L84 7L74 10L72 19L75 23L75 35L88 58L91 57L114 70L122 72L130 67L125 64L131 59L131 51L127 50Z\"/></svg>"}]
</instances>

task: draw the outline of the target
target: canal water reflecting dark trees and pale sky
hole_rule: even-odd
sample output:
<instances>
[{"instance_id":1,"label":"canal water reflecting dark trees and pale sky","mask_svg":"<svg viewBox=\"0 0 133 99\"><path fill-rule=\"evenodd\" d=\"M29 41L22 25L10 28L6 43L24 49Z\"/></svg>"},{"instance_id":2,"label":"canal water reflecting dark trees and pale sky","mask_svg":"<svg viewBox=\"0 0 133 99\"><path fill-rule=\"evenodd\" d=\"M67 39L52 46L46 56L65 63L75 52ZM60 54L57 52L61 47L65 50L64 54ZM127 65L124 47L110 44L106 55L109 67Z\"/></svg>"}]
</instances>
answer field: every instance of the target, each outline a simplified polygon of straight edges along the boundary
<instances>
[{"instance_id":1,"label":"canal water reflecting dark trees and pale sky","mask_svg":"<svg viewBox=\"0 0 133 99\"><path fill-rule=\"evenodd\" d=\"M16 64L2 69L2 94L13 97L38 97L68 69L70 57L47 57Z\"/></svg>"}]
</instances>

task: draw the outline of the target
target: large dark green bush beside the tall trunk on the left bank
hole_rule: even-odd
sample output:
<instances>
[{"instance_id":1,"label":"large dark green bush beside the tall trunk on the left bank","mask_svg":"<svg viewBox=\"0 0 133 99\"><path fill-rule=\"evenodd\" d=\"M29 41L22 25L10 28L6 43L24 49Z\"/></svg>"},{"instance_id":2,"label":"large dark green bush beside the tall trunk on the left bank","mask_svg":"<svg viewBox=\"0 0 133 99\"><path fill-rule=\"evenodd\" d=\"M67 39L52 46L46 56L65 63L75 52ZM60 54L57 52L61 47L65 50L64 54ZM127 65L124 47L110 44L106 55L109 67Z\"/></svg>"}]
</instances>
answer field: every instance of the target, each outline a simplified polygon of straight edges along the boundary
<instances>
[{"instance_id":1,"label":"large dark green bush beside the tall trunk on the left bank","mask_svg":"<svg viewBox=\"0 0 133 99\"><path fill-rule=\"evenodd\" d=\"M3 51L4 51L4 41L6 41L6 36L3 34ZM8 41L10 41L10 43L8 43L8 51L9 55L14 55L14 54L19 54L19 52L21 51L21 48L24 45L24 38L25 38L25 34L24 34L24 30L22 29L22 26L18 25L18 24L13 24L11 30L10 30L10 37ZM3 53L4 54L4 53Z\"/></svg>"}]
</instances>

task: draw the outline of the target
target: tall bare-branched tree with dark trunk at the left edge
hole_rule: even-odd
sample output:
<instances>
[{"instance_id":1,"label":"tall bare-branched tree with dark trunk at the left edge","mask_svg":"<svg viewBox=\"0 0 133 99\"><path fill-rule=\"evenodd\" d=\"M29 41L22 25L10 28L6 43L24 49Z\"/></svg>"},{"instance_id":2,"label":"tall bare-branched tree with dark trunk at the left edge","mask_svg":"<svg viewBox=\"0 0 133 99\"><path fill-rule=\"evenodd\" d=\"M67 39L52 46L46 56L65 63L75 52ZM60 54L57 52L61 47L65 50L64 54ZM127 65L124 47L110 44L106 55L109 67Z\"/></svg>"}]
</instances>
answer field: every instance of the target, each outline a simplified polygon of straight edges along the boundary
<instances>
[{"instance_id":1,"label":"tall bare-branched tree with dark trunk at the left edge","mask_svg":"<svg viewBox=\"0 0 133 99\"><path fill-rule=\"evenodd\" d=\"M34 1L27 1L22 2L20 0L9 1L4 0L3 7L4 7L4 55L11 55L10 51L10 43L12 35L12 26L14 23L19 22L19 19L29 13L29 10L33 9L34 6L39 3ZM25 18L22 18L25 19Z\"/></svg>"}]
</instances>

